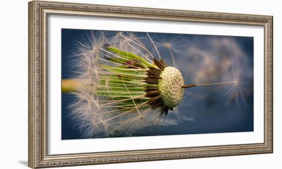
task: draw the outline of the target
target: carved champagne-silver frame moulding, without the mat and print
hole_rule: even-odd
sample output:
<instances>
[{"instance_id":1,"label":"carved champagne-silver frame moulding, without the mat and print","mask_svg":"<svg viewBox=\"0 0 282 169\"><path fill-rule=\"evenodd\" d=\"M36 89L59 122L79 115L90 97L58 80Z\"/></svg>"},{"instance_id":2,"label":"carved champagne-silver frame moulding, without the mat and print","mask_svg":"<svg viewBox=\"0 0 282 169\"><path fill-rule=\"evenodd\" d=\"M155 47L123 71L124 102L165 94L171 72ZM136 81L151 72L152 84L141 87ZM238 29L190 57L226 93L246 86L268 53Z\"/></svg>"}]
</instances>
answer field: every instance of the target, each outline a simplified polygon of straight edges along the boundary
<instances>
[{"instance_id":1,"label":"carved champagne-silver frame moulding, without the mat and print","mask_svg":"<svg viewBox=\"0 0 282 169\"><path fill-rule=\"evenodd\" d=\"M55 167L55 166L77 166L77 165L89 165L89 164L105 164L105 163L121 163L121 162L136 162L136 161L155 161L155 160L172 160L172 159L187 159L187 158L203 158L203 157L217 157L217 156L232 156L232 155L247 155L247 154L262 154L262 153L273 153L273 16L266 15L251 15L251 14L235 14L235 13L218 13L218 12L203 12L203 11L186 11L186 10L172 10L172 9L153 9L153 8L142 8L142 7L124 7L124 6L106 6L106 5L95 5L95 4L77 4L77 3L63 3L63 2L47 2L47 1L32 1L28 4L28 166L31 168L42 168L42 167ZM44 95L45 90L45 61L42 60L44 56L44 48L42 46L45 38L44 27L42 27L42 9L64 9L66 11L71 10L82 10L86 12L95 11L100 13L111 12L116 18L128 17L140 18L145 20L151 20L146 14L154 16L152 20L169 20L169 21L191 21L191 22L204 22L204 23L221 23L221 24L239 24L239 25L264 25L267 29L265 32L265 39L267 44L265 48L268 52L265 52L265 58L267 57L268 63L265 63L267 71L265 74L267 79L268 88L265 88L270 95L267 97L267 131L265 131L265 138L267 142L264 145L253 145L254 147L241 147L235 149L219 149L209 150L202 152L173 152L162 154L155 152L152 154L137 154L133 156L124 156L123 153L115 156L105 157L94 157L93 155L60 155L46 156L46 142L43 139L45 130L45 109ZM143 16L137 17L136 14L142 14ZM75 15L75 14L73 14ZM92 15L91 15L92 16ZM102 15L104 16L104 15ZM106 16L107 17L107 16ZM171 19L172 17L172 19ZM187 19L186 19L187 17ZM253 21L253 22L249 22ZM45 58L44 58L45 59ZM42 77L43 76L43 77ZM263 146L263 147L261 147ZM145 150L145 153L146 150ZM73 158L70 158L73 156ZM90 158L91 157L91 158Z\"/></svg>"}]
</instances>

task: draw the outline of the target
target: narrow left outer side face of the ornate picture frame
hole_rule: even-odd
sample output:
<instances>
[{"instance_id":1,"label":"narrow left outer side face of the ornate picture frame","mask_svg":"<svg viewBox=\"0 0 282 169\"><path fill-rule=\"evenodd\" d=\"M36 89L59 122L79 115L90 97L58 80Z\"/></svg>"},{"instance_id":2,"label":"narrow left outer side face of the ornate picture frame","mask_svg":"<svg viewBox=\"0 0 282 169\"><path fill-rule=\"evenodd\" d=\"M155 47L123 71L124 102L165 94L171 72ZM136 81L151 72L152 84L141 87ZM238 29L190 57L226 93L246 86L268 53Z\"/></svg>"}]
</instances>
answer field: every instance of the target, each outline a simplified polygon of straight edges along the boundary
<instances>
[{"instance_id":1,"label":"narrow left outer side face of the ornate picture frame","mask_svg":"<svg viewBox=\"0 0 282 169\"><path fill-rule=\"evenodd\" d=\"M28 166L35 168L35 7L28 3Z\"/></svg>"}]
</instances>

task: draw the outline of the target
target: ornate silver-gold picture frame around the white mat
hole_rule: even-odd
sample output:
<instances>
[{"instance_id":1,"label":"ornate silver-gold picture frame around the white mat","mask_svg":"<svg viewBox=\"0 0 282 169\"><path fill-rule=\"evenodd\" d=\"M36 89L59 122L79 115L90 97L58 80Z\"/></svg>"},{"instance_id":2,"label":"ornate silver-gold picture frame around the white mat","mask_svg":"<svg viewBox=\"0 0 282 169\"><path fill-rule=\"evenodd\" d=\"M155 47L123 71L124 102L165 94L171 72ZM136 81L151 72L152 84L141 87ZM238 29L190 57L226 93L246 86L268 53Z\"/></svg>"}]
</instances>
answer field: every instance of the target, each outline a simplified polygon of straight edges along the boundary
<instances>
[{"instance_id":1,"label":"ornate silver-gold picture frame around the white mat","mask_svg":"<svg viewBox=\"0 0 282 169\"><path fill-rule=\"evenodd\" d=\"M41 168L273 153L273 16L44 1L32 1L28 5L29 167ZM48 121L50 116L48 111L50 106L48 72L51 66L48 60L48 47L50 46L48 25L53 24L49 23L48 18L50 16L98 17L129 21L166 21L171 24L179 22L183 24L221 24L263 28L264 53L260 54L264 56L264 64L260 65L260 68L264 69L264 74L259 74L261 77L264 76L264 98L261 98L264 100L263 123L261 124L263 141L182 147L175 145L175 147L136 150L120 150L117 148L116 151L91 151L87 153L50 153L49 148L52 145L49 144L50 141L48 140L50 137L50 133L48 133L50 128L50 121ZM61 112L57 113L61 114ZM58 128L58 130L60 129Z\"/></svg>"}]
</instances>

